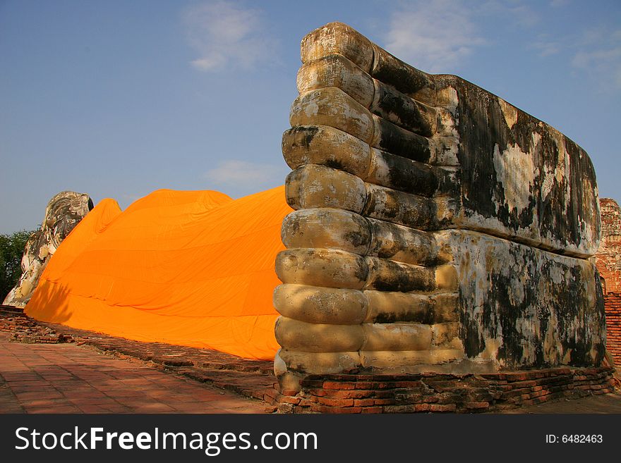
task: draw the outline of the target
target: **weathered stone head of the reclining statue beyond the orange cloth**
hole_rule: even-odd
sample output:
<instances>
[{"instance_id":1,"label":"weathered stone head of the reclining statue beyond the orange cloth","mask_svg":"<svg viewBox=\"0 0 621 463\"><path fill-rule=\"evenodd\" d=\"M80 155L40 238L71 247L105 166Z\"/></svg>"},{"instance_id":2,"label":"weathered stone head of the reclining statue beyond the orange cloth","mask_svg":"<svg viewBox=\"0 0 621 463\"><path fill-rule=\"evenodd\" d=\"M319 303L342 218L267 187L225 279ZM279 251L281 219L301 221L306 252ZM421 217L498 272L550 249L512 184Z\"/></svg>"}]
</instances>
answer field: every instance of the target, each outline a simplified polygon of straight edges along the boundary
<instances>
[{"instance_id":1,"label":"weathered stone head of the reclining statue beyond the orange cloth","mask_svg":"<svg viewBox=\"0 0 621 463\"><path fill-rule=\"evenodd\" d=\"M85 193L64 191L49 200L41 229L32 233L26 243L22 276L6 295L4 304L25 307L49 259L92 207L92 199Z\"/></svg>"}]
</instances>

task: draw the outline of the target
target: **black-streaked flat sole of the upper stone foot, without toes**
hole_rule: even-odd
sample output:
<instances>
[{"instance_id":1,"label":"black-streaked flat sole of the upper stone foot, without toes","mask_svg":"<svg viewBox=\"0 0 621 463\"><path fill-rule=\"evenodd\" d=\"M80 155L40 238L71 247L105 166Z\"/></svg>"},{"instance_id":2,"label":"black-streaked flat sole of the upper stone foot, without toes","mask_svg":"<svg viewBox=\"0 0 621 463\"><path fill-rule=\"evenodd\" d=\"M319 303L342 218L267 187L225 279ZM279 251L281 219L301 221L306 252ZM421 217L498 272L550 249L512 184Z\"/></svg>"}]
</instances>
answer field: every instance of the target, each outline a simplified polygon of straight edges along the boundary
<instances>
[{"instance_id":1,"label":"black-streaked flat sole of the upper stone foot, without toes","mask_svg":"<svg viewBox=\"0 0 621 463\"><path fill-rule=\"evenodd\" d=\"M436 85L454 89L458 99L462 192L454 225L562 254L594 254L600 219L586 152L469 82L447 76Z\"/></svg>"}]
</instances>

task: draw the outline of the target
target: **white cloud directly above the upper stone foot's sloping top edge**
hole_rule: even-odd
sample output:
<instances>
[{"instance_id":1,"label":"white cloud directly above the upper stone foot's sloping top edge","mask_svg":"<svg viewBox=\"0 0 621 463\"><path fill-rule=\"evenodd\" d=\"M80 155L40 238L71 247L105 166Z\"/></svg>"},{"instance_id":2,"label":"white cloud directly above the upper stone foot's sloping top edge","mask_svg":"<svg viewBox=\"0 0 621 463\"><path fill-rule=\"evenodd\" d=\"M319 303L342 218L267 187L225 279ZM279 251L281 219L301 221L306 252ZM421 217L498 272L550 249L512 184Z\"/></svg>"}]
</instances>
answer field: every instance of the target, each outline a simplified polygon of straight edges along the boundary
<instances>
[{"instance_id":1,"label":"white cloud directly above the upper stone foot's sloping top edge","mask_svg":"<svg viewBox=\"0 0 621 463\"><path fill-rule=\"evenodd\" d=\"M449 0L431 0L394 11L386 49L416 68L453 73L474 47L484 44L472 11Z\"/></svg>"}]
</instances>

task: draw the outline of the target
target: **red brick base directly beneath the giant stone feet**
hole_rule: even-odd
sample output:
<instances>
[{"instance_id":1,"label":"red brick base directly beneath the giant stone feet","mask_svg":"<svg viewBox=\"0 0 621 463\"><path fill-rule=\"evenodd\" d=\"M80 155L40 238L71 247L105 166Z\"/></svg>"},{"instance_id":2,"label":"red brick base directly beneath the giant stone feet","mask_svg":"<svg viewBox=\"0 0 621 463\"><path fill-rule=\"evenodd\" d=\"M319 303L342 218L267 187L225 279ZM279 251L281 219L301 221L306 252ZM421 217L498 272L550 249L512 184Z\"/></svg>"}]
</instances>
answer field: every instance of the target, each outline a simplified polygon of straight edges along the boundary
<instances>
[{"instance_id":1,"label":"red brick base directly beneath the giant stone feet","mask_svg":"<svg viewBox=\"0 0 621 463\"><path fill-rule=\"evenodd\" d=\"M495 412L614 391L613 369L555 368L498 374L311 375L281 413ZM283 391L286 392L286 391Z\"/></svg>"}]
</instances>

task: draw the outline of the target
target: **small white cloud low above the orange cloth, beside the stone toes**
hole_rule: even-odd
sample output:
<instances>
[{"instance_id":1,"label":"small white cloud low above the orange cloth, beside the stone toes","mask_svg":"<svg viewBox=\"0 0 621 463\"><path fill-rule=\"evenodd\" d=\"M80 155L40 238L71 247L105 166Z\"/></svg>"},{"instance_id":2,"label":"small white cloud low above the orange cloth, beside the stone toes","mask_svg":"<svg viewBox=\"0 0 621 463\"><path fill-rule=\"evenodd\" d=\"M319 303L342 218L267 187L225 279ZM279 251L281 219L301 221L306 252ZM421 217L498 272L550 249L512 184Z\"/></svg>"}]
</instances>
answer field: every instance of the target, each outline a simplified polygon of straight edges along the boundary
<instances>
[{"instance_id":1,"label":"small white cloud low above the orange cloth, beside the stone toes","mask_svg":"<svg viewBox=\"0 0 621 463\"><path fill-rule=\"evenodd\" d=\"M265 185L281 185L287 171L287 168L273 164L231 160L220 162L203 177L215 185L258 189Z\"/></svg>"}]
</instances>

